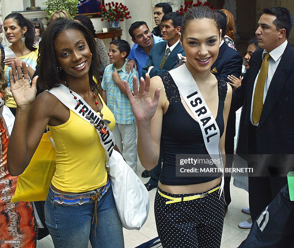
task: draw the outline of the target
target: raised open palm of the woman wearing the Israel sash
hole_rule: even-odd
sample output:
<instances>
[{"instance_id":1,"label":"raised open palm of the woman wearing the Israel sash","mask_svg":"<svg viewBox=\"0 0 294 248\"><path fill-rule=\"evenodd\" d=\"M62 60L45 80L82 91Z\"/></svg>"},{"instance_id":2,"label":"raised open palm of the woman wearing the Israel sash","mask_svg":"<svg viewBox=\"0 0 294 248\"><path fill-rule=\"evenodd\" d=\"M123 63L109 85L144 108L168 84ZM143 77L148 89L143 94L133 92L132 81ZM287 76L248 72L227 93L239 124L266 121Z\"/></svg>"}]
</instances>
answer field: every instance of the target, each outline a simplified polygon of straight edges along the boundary
<instances>
[{"instance_id":1,"label":"raised open palm of the woman wearing the Israel sash","mask_svg":"<svg viewBox=\"0 0 294 248\"><path fill-rule=\"evenodd\" d=\"M124 81L126 92L131 103L133 114L136 122L151 120L154 116L158 100L160 88L156 89L153 100L150 97L150 76L146 74L146 81L141 78L140 87L138 90L137 77L133 77L133 94L128 86L128 82Z\"/></svg>"}]
</instances>

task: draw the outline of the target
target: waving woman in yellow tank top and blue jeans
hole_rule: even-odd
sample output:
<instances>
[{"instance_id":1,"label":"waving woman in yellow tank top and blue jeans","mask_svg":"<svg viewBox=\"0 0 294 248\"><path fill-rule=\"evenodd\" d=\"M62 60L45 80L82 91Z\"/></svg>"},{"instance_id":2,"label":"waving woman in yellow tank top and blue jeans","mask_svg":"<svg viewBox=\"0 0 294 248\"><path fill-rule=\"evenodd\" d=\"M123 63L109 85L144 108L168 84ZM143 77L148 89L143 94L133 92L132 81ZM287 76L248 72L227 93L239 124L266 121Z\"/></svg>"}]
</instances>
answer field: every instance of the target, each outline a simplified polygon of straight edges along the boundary
<instances>
[{"instance_id":1,"label":"waving woman in yellow tank top and blue jeans","mask_svg":"<svg viewBox=\"0 0 294 248\"><path fill-rule=\"evenodd\" d=\"M99 65L91 32L78 22L60 18L44 32L39 49L38 83L44 89L65 85L103 114L103 119L111 121L112 130L113 114L98 94L100 83L93 80L99 78ZM86 248L89 239L93 248L124 247L98 133L51 93L43 92L34 100L37 77L31 86L24 63L22 67L24 78L17 61L9 72L17 104L7 155L9 172L16 176L24 171L48 125L56 145L56 172L45 203L45 217L54 247ZM92 224L96 213L98 219Z\"/></svg>"}]
</instances>

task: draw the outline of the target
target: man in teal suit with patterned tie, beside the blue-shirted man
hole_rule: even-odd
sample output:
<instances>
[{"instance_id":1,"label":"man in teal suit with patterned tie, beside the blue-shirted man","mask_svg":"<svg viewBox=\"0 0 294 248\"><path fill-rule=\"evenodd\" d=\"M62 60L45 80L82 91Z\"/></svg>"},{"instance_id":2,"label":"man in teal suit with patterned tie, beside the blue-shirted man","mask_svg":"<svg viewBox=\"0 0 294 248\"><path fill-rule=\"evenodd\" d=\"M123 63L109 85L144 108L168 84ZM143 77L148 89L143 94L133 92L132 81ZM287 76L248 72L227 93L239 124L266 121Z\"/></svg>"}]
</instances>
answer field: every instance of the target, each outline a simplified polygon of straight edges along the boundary
<instances>
[{"instance_id":1,"label":"man in teal suit with patterned tie, beside the blue-shirted man","mask_svg":"<svg viewBox=\"0 0 294 248\"><path fill-rule=\"evenodd\" d=\"M152 47L146 65L142 69L143 77L148 72L150 77L161 76L177 65L177 54L185 55L178 33L181 32L182 16L176 12L165 14L162 21L162 39Z\"/></svg>"}]
</instances>

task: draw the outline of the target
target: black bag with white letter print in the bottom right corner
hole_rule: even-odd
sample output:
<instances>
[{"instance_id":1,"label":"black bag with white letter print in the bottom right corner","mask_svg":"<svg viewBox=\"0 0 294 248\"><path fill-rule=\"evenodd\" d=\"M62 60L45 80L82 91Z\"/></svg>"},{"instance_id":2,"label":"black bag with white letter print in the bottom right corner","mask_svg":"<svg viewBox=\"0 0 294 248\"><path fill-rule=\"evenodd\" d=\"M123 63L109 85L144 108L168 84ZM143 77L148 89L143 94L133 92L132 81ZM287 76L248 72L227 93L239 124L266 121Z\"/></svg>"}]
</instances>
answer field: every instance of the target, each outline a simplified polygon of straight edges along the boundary
<instances>
[{"instance_id":1,"label":"black bag with white letter print in the bottom right corner","mask_svg":"<svg viewBox=\"0 0 294 248\"><path fill-rule=\"evenodd\" d=\"M258 190L258 189L256 189ZM294 202L286 184L253 222L238 248L290 248L294 243Z\"/></svg>"}]
</instances>

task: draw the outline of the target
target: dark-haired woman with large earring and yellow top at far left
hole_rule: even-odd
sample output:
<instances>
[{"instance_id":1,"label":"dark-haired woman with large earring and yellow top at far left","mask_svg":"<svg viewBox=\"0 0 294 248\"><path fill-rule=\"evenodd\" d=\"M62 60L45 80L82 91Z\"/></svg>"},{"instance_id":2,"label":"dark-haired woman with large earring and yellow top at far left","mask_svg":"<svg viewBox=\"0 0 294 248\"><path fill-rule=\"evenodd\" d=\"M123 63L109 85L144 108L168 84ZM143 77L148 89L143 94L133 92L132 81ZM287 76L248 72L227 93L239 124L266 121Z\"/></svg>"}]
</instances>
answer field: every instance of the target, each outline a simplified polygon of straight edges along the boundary
<instances>
[{"instance_id":1,"label":"dark-haired woman with large earring and yellow top at far left","mask_svg":"<svg viewBox=\"0 0 294 248\"><path fill-rule=\"evenodd\" d=\"M11 13L4 19L4 31L6 39L11 45L4 49L5 67L4 73L7 78L8 87L6 88L8 100L6 106L15 115L16 103L10 91L9 69L11 62L17 60L22 69L22 62L26 63L30 79L36 70L38 48L34 47L35 28L33 24L22 14Z\"/></svg>"}]
</instances>

